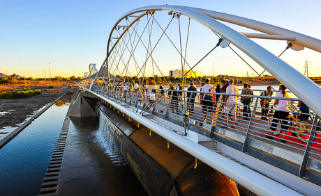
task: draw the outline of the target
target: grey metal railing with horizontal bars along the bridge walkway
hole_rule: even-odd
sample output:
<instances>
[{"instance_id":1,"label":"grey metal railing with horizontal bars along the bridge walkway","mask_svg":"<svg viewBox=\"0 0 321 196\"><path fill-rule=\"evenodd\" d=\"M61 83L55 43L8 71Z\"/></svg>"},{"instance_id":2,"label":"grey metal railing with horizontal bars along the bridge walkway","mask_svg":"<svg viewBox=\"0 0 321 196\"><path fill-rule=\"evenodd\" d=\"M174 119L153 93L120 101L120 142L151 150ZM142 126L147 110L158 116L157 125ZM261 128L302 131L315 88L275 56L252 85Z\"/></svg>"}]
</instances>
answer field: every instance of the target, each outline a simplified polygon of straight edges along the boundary
<instances>
[{"instance_id":1,"label":"grey metal railing with horizontal bars along the bridge walkway","mask_svg":"<svg viewBox=\"0 0 321 196\"><path fill-rule=\"evenodd\" d=\"M88 86L87 86L88 88ZM311 113L301 113L297 107L299 99L279 97L263 97L256 95L237 96L237 103L225 103L223 97L227 94L208 92L212 100L201 99L202 92L186 90L168 90L153 88L133 88L119 85L94 85L93 91L114 99L119 104L128 104L136 109L137 113L151 113L165 120L179 124L188 130L195 131L202 128L208 131L203 135L216 134L212 127L232 131L241 135L238 142L242 143L242 152L248 151L250 138L276 145L291 152L300 154L303 158L299 177L304 177L308 158L321 160L321 122L320 117ZM152 92L153 91L153 92ZM187 94L195 98L187 97ZM247 106L248 113L244 112L241 97L250 99ZM262 106L262 99L269 99L269 105ZM289 106L289 115L285 119L274 117L275 108L271 108L275 99L294 101ZM223 105L230 104L229 108ZM267 113L267 115L263 115ZM302 117L308 120L302 120ZM273 126L273 127L272 127ZM271 127L276 131L271 130ZM219 129L218 129L219 130Z\"/></svg>"}]
</instances>

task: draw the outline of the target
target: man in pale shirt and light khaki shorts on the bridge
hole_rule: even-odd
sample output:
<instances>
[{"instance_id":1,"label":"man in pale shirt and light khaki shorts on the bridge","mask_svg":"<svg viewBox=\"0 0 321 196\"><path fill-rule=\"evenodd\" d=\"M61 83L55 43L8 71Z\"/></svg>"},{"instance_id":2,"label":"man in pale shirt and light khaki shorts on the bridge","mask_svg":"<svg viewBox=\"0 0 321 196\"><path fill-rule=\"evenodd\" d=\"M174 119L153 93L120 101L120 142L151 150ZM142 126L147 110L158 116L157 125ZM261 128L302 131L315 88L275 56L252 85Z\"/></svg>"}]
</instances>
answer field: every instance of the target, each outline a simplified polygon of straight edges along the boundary
<instances>
[{"instance_id":1,"label":"man in pale shirt and light khaki shorts on the bridge","mask_svg":"<svg viewBox=\"0 0 321 196\"><path fill-rule=\"evenodd\" d=\"M234 85L234 79L228 81L229 86L226 88L226 94L239 94L239 90ZM224 104L224 118L227 126L228 114L232 114L232 128L235 128L235 111L237 110L237 97L235 95L225 95L225 104Z\"/></svg>"}]
</instances>

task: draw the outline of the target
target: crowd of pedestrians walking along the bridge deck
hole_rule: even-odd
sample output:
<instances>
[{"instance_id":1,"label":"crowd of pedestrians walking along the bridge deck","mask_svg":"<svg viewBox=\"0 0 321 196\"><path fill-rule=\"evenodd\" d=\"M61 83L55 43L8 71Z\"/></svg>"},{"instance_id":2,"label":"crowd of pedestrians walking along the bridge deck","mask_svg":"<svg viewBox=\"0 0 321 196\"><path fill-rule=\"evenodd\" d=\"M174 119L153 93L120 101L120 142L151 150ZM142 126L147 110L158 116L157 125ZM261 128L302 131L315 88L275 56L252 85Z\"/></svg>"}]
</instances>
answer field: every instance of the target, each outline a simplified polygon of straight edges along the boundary
<instances>
[{"instance_id":1,"label":"crowd of pedestrians walking along the bridge deck","mask_svg":"<svg viewBox=\"0 0 321 196\"><path fill-rule=\"evenodd\" d=\"M186 92L186 99L184 99L184 89L181 86L180 83L177 84L177 86L170 85L168 90L163 88L162 85L157 85L154 83L152 88L149 88L149 85L147 83L142 83L142 90L140 90L140 85L137 83L131 84L131 83L114 83L112 85L110 83L110 86L113 86L114 90L119 90L119 92L124 92L123 96L126 97L128 93L131 93L131 90L133 90L134 94L137 94L137 97L142 97L138 100L140 101L146 101L147 104L154 104L156 99L161 98L165 101L166 92L168 95L169 108L172 113L176 113L181 115L183 107L181 108L181 105L186 104L186 108L188 110L188 113L190 115L193 115L195 112L195 101L198 99L200 100L200 105L202 107L202 114L203 114L203 122L207 123L210 121L207 121L207 116L211 117L211 122L214 122L214 113L216 112L217 108L223 108L223 115L225 118L225 122L223 123L223 126L227 126L227 120L228 116L232 115L232 128L235 127L236 123L236 111L237 106L239 105L237 100L238 97L241 97L241 103L243 104L243 112L238 113L238 115L243 115L243 120L249 120L252 115L251 111L251 104L253 104L253 90L251 90L251 85L248 83L244 83L244 88L241 91L241 94L239 95L239 90L234 85L234 79L226 79L225 81L222 81L221 85L217 84L215 87L211 85L211 79L207 78L205 79L205 83L202 83L202 88L200 88L200 92L197 92L197 88L195 87L195 84L193 81L191 81L187 87ZM140 95L138 95L138 92L140 92ZM219 93L214 94L213 92ZM260 120L267 120L268 114L269 114L269 106L271 103L271 98L274 95L271 86L267 87L267 90L264 90L260 96L262 96L260 99L260 108L261 108L261 118ZM283 97L283 98L290 98L290 95L288 95L288 92L286 92L285 85L279 85L279 92L276 92L275 97ZM278 122L282 123L281 130L286 131L288 130L288 121L287 117L289 115L289 108L288 105L291 101L287 101L284 99L275 99L274 106L275 113L273 117L273 122L271 126L269 127L270 131L274 133L276 131L276 125ZM299 119L301 120L308 120L308 113L310 112L310 109L306 104L299 101L299 112L301 113L299 115ZM285 134L284 134L285 136ZM283 136L283 137L284 137ZM270 136L267 136L270 138ZM284 138L283 138L284 139ZM282 140L284 141L284 140Z\"/></svg>"}]
</instances>

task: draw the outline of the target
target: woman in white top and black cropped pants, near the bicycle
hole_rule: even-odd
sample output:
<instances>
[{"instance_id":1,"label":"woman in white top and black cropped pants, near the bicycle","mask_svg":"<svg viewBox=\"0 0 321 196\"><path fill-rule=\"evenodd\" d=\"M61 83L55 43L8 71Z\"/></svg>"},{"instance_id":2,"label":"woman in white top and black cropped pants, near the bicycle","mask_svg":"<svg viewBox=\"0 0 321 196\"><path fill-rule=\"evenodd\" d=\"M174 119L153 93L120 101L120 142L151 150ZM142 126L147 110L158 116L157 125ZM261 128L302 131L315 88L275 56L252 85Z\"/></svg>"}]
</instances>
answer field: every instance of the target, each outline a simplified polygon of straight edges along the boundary
<instances>
[{"instance_id":1,"label":"woman in white top and black cropped pants, near the bicycle","mask_svg":"<svg viewBox=\"0 0 321 196\"><path fill-rule=\"evenodd\" d=\"M283 98L291 98L288 92L286 92L286 87L283 84L280 84L278 86L279 92L276 92L276 97L283 97ZM293 103L294 101L290 101ZM275 132L276 131L276 126L279 121L281 121L282 126L281 126L281 133L283 133L283 139L281 142L285 142L285 135L286 131L288 130L288 115L289 115L289 101L288 100L281 100L281 99L276 99L274 101L274 106L276 106L276 111L273 116L273 122L271 126L269 127L270 131ZM267 138L273 139L272 136L266 135Z\"/></svg>"}]
</instances>

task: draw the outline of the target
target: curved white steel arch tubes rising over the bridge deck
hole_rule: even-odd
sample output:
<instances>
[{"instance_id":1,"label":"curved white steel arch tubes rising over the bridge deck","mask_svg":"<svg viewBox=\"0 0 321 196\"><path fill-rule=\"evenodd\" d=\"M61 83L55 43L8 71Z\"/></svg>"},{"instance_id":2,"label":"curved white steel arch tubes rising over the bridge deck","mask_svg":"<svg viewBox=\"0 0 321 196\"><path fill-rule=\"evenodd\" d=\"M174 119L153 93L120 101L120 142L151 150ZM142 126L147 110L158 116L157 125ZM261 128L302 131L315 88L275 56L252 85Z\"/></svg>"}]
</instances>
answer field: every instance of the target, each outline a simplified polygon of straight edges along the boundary
<instances>
[{"instance_id":1,"label":"curved white steel arch tubes rising over the bridge deck","mask_svg":"<svg viewBox=\"0 0 321 196\"><path fill-rule=\"evenodd\" d=\"M252 19L246 19L243 17L237 17L234 15L227 15L224 13L218 13L211 10L203 10L199 8L189 8L184 6L147 6L143 8L137 8L135 10L131 10L126 13L122 17L120 17L117 22L114 24L112 31L110 32L110 37L107 43L107 58L110 55L111 51L114 49L110 49L110 40L112 39L112 33L114 29L117 27L119 22L126 17L133 16L135 13L142 12L151 12L151 11L159 11L165 10L174 13L179 13L181 15L185 15L186 17L190 17L195 21L207 26L212 31L215 31L219 35L221 35L225 40L231 42L238 49L243 51L250 58L255 60L256 63L261 65L265 70L271 73L278 81L281 81L285 86L287 86L299 99L304 101L306 105L315 111L319 116L321 115L321 105L318 103L318 100L321 97L321 89L317 84L308 79L306 76L299 73L293 67L285 63L283 60L271 54L271 52L267 51L259 44L253 42L246 36L241 33L234 31L234 29L218 22L216 19L230 22L232 24L237 24L239 26L245 26L247 28L252 28L257 31L261 31L263 33L272 34L272 37L275 35L283 35L290 38L290 42L299 47L308 47L314 49L315 51L321 52L321 40L311 38L307 35L302 35L300 33L296 33L294 31L289 31L285 28L280 28L277 26L273 26L270 24L264 24L262 22L257 22ZM114 44L117 45L120 38L128 31L128 28L132 26L137 20L146 15L147 13L142 13L137 17L131 24L125 26L125 31L119 36L117 42ZM105 65L105 62L103 63ZM103 67L102 65L102 67ZM100 70L102 70L100 68Z\"/></svg>"}]
</instances>

